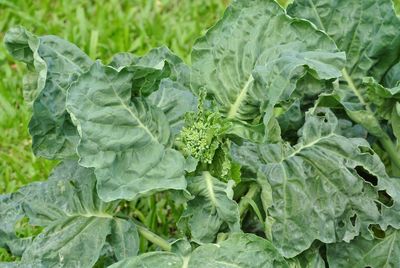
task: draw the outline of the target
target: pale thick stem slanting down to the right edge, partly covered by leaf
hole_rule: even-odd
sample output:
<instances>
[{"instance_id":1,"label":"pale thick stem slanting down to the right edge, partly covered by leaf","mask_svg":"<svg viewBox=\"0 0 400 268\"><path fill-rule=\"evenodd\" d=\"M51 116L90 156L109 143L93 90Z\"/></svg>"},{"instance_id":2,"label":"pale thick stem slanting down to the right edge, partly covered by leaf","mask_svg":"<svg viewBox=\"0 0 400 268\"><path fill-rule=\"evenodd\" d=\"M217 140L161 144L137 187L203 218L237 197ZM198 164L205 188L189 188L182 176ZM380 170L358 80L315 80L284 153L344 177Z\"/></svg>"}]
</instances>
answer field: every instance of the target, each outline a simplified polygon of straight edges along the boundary
<instances>
[{"instance_id":1,"label":"pale thick stem slanting down to the right edge, partly covered by leaf","mask_svg":"<svg viewBox=\"0 0 400 268\"><path fill-rule=\"evenodd\" d=\"M360 100L360 103L364 105L365 109L367 110L368 113L373 115L374 113L372 112L371 108L369 107L368 103L365 101L363 96L361 95L360 91L357 89L357 87L354 84L353 79L350 77L349 73L347 72L346 69L342 70L342 74L344 79L346 80L347 84L349 85L350 89L354 92L354 94L357 96L357 98ZM376 119L376 121L379 124L379 121ZM361 122L360 122L361 123ZM362 123L361 123L362 125ZM368 129L368 126L364 126L366 129ZM386 153L389 155L390 160L392 161L393 165L395 165L397 168L400 168L400 155L396 151L396 145L392 142L390 137L387 135L386 132L382 131L383 135L381 136L376 136L382 145L383 149L385 149Z\"/></svg>"}]
</instances>

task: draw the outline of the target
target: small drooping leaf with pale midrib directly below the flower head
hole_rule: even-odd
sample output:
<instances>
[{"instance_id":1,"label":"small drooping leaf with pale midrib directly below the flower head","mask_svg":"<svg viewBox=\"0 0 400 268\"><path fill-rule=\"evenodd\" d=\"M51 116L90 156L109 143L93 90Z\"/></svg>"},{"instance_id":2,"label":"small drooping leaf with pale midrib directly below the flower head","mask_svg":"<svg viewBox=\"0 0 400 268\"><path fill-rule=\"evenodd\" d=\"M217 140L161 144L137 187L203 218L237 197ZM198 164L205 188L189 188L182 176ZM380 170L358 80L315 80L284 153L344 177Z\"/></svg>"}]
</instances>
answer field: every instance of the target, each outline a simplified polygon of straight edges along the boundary
<instances>
[{"instance_id":1,"label":"small drooping leaf with pale midrib directly below the flower head","mask_svg":"<svg viewBox=\"0 0 400 268\"><path fill-rule=\"evenodd\" d=\"M191 233L192 240L213 242L223 223L231 232L240 231L239 208L232 200L233 181L224 183L204 172L188 178L188 191L194 196L187 204L180 225Z\"/></svg>"}]
</instances>

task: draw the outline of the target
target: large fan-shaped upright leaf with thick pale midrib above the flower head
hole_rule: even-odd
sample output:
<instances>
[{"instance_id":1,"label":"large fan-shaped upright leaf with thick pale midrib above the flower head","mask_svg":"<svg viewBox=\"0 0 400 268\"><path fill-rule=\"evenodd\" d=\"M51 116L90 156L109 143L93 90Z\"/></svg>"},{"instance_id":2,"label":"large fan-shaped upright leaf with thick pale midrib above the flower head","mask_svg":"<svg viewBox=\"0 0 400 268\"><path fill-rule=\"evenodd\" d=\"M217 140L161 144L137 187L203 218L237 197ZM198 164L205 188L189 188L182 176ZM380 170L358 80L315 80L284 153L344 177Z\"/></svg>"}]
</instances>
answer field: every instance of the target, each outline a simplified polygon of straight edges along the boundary
<instances>
[{"instance_id":1,"label":"large fan-shaped upright leaf with thick pale midrib above the flower head","mask_svg":"<svg viewBox=\"0 0 400 268\"><path fill-rule=\"evenodd\" d=\"M237 0L197 40L192 62L194 90L205 88L221 113L239 121L232 131L250 137L254 119L265 112L268 124L274 105L288 99L307 72L318 79L339 77L344 53L272 0Z\"/></svg>"}]
</instances>

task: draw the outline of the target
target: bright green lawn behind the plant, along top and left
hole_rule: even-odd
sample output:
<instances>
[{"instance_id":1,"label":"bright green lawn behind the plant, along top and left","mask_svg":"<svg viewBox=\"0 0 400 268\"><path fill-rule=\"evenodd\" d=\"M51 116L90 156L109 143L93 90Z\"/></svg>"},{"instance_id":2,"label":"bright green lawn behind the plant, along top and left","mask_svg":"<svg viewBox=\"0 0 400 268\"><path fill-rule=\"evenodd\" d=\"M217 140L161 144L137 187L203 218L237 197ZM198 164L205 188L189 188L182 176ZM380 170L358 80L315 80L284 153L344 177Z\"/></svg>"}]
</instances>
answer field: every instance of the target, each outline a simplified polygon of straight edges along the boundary
<instances>
[{"instance_id":1,"label":"bright green lawn behind the plant, along top and left","mask_svg":"<svg viewBox=\"0 0 400 268\"><path fill-rule=\"evenodd\" d=\"M167 45L189 61L195 38L223 13L229 0L0 0L0 40L14 25L54 34L93 59L143 54ZM28 133L30 108L22 98L25 67L0 43L0 194L47 178L54 163L35 158ZM1 255L1 252L0 252Z\"/></svg>"}]
</instances>

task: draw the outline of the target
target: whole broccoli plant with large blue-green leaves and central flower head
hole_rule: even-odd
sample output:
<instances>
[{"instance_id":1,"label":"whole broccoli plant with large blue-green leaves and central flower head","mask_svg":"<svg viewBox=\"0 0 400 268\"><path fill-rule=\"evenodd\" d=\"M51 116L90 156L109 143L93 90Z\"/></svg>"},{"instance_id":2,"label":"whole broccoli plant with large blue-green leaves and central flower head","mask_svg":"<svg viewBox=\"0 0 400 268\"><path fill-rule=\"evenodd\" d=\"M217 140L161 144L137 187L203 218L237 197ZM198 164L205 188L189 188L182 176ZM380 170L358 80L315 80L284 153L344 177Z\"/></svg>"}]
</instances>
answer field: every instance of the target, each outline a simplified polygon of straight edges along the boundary
<instances>
[{"instance_id":1,"label":"whole broccoli plant with large blue-green leaves and central flower head","mask_svg":"<svg viewBox=\"0 0 400 268\"><path fill-rule=\"evenodd\" d=\"M0 196L2 266L400 267L395 5L278 2L233 1L191 66L10 29L59 164Z\"/></svg>"}]
</instances>

